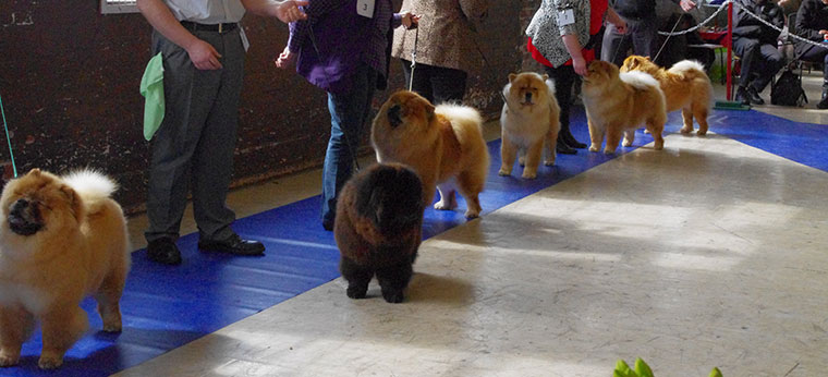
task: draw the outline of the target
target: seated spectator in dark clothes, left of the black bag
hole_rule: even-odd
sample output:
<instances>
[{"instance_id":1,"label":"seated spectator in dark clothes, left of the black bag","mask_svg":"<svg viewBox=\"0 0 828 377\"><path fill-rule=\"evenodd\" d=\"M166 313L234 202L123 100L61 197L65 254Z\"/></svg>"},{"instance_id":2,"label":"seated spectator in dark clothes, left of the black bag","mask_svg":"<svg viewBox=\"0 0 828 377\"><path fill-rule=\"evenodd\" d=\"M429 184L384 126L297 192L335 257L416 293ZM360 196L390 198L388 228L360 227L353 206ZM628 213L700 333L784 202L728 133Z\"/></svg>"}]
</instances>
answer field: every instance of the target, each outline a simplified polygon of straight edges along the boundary
<instances>
[{"instance_id":1,"label":"seated spectator in dark clothes, left of the black bag","mask_svg":"<svg viewBox=\"0 0 828 377\"><path fill-rule=\"evenodd\" d=\"M745 105L765 105L759 93L784 66L784 58L777 48L780 32L754 19L744 10L771 25L784 26L782 9L768 0L735 0L740 7L733 12L733 51L741 59L736 101Z\"/></svg>"}]
</instances>

